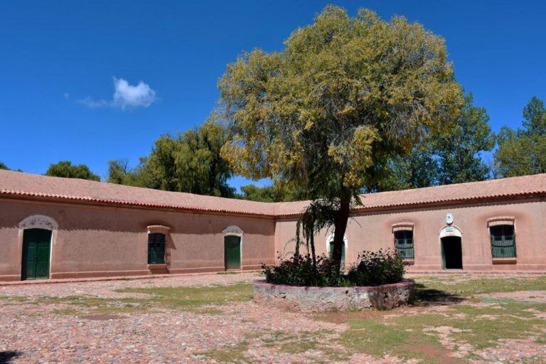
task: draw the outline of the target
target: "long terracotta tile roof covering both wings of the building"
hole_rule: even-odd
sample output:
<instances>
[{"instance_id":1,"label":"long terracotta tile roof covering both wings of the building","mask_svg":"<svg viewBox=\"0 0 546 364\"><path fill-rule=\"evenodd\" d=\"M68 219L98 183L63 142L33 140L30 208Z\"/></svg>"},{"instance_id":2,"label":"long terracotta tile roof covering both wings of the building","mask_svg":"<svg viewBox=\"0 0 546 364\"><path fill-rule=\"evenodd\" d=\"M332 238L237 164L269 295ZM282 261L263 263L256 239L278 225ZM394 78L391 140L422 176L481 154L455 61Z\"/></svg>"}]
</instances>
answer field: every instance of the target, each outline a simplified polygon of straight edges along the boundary
<instances>
[{"instance_id":1,"label":"long terracotta tile roof covering both wings of the building","mask_svg":"<svg viewBox=\"0 0 546 364\"><path fill-rule=\"evenodd\" d=\"M546 174L363 195L360 210L546 195ZM0 196L242 215L298 215L307 201L259 203L0 170Z\"/></svg>"}]
</instances>

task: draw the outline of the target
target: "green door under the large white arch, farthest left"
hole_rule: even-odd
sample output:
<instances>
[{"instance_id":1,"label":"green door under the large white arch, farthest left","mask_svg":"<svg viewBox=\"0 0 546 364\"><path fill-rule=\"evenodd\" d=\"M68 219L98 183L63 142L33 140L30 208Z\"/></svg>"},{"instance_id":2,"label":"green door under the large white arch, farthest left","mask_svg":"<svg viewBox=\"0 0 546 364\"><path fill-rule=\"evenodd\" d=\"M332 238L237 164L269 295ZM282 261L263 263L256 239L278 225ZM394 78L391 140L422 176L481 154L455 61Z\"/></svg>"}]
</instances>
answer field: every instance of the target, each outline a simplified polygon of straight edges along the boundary
<instances>
[{"instance_id":1,"label":"green door under the large white arch, farthest left","mask_svg":"<svg viewBox=\"0 0 546 364\"><path fill-rule=\"evenodd\" d=\"M50 230L24 230L21 279L40 279L49 277L50 244Z\"/></svg>"}]
</instances>

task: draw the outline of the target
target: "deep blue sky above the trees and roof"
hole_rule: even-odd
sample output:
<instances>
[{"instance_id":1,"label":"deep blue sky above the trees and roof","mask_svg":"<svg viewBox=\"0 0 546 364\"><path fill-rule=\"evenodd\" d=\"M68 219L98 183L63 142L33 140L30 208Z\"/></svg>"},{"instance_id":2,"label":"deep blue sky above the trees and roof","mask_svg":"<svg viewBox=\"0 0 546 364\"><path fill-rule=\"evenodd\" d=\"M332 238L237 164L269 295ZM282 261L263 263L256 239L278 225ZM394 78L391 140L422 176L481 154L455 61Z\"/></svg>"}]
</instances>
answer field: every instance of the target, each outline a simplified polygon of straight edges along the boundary
<instances>
[{"instance_id":1,"label":"deep blue sky above the trees and roof","mask_svg":"<svg viewBox=\"0 0 546 364\"><path fill-rule=\"evenodd\" d=\"M160 134L203 122L227 63L279 50L330 3L443 36L495 131L546 99L546 1L1 1L0 161L44 173L70 160L103 177L109 159L137 164Z\"/></svg>"}]
</instances>

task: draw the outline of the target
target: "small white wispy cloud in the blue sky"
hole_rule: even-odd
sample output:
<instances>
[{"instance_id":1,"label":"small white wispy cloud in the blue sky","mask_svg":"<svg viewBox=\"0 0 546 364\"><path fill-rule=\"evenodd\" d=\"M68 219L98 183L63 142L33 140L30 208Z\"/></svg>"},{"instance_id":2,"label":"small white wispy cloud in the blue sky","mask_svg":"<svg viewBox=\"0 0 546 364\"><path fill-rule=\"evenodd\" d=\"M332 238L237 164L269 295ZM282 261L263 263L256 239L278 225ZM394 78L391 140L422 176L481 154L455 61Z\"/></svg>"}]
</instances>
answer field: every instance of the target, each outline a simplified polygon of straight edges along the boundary
<instances>
[{"instance_id":1,"label":"small white wispy cloud in the blue sky","mask_svg":"<svg viewBox=\"0 0 546 364\"><path fill-rule=\"evenodd\" d=\"M114 77L114 95L112 100L94 100L91 97L78 100L82 105L91 108L117 107L129 109L134 107L149 107L157 100L156 92L149 85L140 81L136 86L129 85L127 80Z\"/></svg>"}]
</instances>

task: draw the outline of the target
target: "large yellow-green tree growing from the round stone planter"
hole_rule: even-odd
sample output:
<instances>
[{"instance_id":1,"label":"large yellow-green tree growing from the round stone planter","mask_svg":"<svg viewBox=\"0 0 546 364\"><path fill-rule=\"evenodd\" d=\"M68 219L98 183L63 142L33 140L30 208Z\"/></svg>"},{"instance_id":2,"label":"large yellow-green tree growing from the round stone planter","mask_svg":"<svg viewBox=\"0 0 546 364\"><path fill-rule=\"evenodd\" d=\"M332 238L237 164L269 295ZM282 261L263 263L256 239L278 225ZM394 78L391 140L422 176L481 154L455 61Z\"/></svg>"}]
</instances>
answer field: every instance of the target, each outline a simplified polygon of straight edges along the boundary
<instances>
[{"instance_id":1,"label":"large yellow-green tree growing from the round stone planter","mask_svg":"<svg viewBox=\"0 0 546 364\"><path fill-rule=\"evenodd\" d=\"M333 226L340 264L351 207L377 184L375 165L449 127L461 87L444 40L402 17L327 6L284 44L241 55L221 77L231 132L223 156L235 173L304 188L313 200L304 236Z\"/></svg>"}]
</instances>

